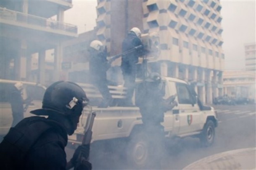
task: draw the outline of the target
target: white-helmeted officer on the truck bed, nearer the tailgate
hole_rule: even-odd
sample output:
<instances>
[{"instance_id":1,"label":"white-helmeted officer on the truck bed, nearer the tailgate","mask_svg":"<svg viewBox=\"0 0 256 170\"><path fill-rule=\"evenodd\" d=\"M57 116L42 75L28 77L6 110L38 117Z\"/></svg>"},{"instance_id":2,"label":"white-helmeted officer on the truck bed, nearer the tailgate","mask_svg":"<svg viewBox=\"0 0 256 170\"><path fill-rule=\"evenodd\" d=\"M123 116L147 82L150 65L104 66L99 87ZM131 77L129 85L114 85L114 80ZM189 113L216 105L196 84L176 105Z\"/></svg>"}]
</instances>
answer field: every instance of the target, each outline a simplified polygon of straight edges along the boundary
<instances>
[{"instance_id":1,"label":"white-helmeted officer on the truck bed, nearer the tailgate","mask_svg":"<svg viewBox=\"0 0 256 170\"><path fill-rule=\"evenodd\" d=\"M110 68L110 63L107 61L107 54L104 52L104 46L101 41L91 41L89 46L89 71L92 83L97 86L102 94L103 101L99 107L106 108L112 106L113 99L107 87L107 70Z\"/></svg>"}]
</instances>

